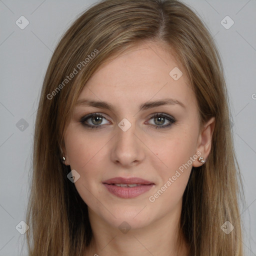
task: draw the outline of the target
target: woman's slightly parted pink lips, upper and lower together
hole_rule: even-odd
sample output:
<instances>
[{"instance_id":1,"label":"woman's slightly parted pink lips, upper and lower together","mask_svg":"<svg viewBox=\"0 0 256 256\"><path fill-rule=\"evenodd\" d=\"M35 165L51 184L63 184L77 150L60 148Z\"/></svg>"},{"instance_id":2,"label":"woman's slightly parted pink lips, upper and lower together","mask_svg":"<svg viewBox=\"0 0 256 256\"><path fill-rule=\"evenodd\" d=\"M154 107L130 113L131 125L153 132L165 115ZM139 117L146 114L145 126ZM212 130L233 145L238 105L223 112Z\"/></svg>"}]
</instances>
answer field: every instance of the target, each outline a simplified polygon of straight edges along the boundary
<instances>
[{"instance_id":1,"label":"woman's slightly parted pink lips, upper and lower together","mask_svg":"<svg viewBox=\"0 0 256 256\"><path fill-rule=\"evenodd\" d=\"M137 177L132 177L132 178L115 177L115 178L107 179L102 183L110 193L122 198L136 197L148 191L154 185L154 183L151 181L148 181L142 178L137 178ZM133 186L133 187L121 187L121 186L114 185L114 183L139 184L139 185Z\"/></svg>"}]
</instances>

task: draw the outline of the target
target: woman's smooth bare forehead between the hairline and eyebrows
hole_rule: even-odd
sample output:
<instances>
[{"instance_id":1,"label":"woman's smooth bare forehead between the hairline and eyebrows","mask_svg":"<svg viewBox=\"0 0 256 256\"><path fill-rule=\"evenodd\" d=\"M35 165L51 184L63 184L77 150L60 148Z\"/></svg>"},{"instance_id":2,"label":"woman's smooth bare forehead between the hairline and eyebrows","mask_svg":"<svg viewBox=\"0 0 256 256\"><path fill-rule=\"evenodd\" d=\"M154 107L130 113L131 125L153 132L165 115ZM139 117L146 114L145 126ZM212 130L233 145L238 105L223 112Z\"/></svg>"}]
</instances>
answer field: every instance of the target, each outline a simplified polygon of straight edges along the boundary
<instances>
[{"instance_id":1,"label":"woman's smooth bare forehead between the hairline and eyebrows","mask_svg":"<svg viewBox=\"0 0 256 256\"><path fill-rule=\"evenodd\" d=\"M127 107L168 96L192 103L186 74L174 55L156 42L133 45L100 65L77 100L86 97Z\"/></svg>"}]
</instances>

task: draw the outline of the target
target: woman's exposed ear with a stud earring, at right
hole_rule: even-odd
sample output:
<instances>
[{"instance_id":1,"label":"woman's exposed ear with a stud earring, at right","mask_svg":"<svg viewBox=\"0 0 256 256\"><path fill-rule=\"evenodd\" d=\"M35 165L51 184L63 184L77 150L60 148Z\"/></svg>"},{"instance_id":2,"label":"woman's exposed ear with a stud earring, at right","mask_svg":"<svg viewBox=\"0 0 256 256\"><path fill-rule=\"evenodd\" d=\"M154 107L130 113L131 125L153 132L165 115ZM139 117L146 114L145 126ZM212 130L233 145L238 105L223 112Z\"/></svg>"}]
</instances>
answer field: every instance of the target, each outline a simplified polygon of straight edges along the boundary
<instances>
[{"instance_id":1,"label":"woman's exposed ear with a stud earring, at right","mask_svg":"<svg viewBox=\"0 0 256 256\"><path fill-rule=\"evenodd\" d=\"M201 154L204 160L208 157L211 148L211 138L213 134L213 130L215 127L215 117L211 117L206 123L203 124L203 127L198 135L197 140L197 151ZM193 166L198 167L202 164L199 161L193 161Z\"/></svg>"}]
</instances>

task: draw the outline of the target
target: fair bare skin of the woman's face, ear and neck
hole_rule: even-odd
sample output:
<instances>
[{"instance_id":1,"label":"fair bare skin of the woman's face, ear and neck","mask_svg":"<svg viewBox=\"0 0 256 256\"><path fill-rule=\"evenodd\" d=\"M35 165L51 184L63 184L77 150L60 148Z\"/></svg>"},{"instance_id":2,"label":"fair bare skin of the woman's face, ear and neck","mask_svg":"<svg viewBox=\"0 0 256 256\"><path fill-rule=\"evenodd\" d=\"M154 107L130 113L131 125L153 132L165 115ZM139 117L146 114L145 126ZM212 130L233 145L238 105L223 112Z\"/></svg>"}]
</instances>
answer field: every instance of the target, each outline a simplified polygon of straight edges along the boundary
<instances>
[{"instance_id":1,"label":"fair bare skin of the woman's face, ear and neck","mask_svg":"<svg viewBox=\"0 0 256 256\"><path fill-rule=\"evenodd\" d=\"M178 247L178 221L191 168L201 163L192 161L153 202L149 196L196 151L207 158L215 119L212 117L200 129L196 98L185 72L178 80L170 77L170 70L177 66L182 71L182 67L163 46L143 42L102 64L78 100L107 101L113 104L113 111L77 105L65 130L65 164L80 174L74 184L88 205L93 231L86 255L189 255L184 239ZM172 104L139 111L141 103L166 97L181 101L185 107ZM82 125L81 117L95 112L106 118L101 123L93 118L85 122L102 126L90 129ZM165 113L176 121L156 129L170 122L157 122L150 118L152 113ZM131 124L126 131L117 125L123 118ZM155 185L135 198L119 198L102 184L117 176L140 177ZM126 233L118 228L123 221L131 227Z\"/></svg>"}]
</instances>

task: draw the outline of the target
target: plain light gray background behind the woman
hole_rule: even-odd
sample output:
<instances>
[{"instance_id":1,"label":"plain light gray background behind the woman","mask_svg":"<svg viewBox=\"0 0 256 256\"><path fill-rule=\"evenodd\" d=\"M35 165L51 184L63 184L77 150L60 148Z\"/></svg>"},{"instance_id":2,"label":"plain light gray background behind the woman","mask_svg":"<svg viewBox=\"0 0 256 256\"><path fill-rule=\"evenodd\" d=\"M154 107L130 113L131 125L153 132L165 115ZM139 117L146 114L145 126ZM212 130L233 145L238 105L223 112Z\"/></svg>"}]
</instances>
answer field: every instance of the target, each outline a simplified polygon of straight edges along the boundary
<instances>
[{"instance_id":1,"label":"plain light gray background behind the woman","mask_svg":"<svg viewBox=\"0 0 256 256\"><path fill-rule=\"evenodd\" d=\"M94 2L0 0L0 256L27 255L24 235L15 226L25 216L43 76L61 34ZM243 243L246 255L256 255L256 0L184 2L206 23L222 57L245 192ZM15 23L21 15L29 21L24 29ZM234 21L229 29L220 23L226 15Z\"/></svg>"}]
</instances>

